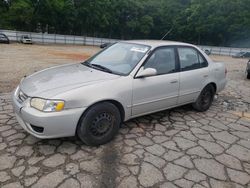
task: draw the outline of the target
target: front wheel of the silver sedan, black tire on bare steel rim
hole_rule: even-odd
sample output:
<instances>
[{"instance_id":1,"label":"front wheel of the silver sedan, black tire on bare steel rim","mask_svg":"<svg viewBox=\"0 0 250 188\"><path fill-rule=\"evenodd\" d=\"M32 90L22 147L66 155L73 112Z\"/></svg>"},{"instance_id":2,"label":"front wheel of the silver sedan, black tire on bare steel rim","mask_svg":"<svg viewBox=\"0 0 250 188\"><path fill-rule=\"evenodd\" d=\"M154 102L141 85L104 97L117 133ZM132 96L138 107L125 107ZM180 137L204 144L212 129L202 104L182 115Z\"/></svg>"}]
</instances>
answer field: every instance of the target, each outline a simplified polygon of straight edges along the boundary
<instances>
[{"instance_id":1,"label":"front wheel of the silver sedan, black tire on bare steel rim","mask_svg":"<svg viewBox=\"0 0 250 188\"><path fill-rule=\"evenodd\" d=\"M76 133L85 144L99 146L114 138L120 124L119 109L109 102L103 102L90 107L83 114Z\"/></svg>"}]
</instances>

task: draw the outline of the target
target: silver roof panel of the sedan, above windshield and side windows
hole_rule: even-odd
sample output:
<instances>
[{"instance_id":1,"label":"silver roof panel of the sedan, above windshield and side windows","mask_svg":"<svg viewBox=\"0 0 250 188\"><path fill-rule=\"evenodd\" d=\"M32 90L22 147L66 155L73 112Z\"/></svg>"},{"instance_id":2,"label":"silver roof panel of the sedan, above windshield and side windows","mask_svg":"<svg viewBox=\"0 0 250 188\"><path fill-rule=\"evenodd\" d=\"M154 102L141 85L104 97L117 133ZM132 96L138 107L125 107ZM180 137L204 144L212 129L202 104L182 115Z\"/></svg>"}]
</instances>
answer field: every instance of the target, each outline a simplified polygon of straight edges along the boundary
<instances>
[{"instance_id":1,"label":"silver roof panel of the sedan, above windshield and side windows","mask_svg":"<svg viewBox=\"0 0 250 188\"><path fill-rule=\"evenodd\" d=\"M176 42L176 41L167 41L167 40L128 40L125 41L128 43L134 43L134 44L141 44L141 45L147 45L151 46L153 48L159 47L159 46L191 46L194 47L192 44L184 43L184 42Z\"/></svg>"}]
</instances>

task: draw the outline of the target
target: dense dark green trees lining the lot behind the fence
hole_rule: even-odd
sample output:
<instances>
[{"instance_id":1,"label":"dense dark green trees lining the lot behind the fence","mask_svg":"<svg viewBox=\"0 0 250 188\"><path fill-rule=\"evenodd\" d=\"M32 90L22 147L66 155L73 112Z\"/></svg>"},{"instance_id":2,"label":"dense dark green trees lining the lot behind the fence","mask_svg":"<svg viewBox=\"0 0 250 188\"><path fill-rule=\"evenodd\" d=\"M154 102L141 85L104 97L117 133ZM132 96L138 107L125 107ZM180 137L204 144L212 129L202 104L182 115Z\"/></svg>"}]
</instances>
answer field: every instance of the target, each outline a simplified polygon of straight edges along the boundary
<instances>
[{"instance_id":1,"label":"dense dark green trees lining the lot behind the fence","mask_svg":"<svg viewBox=\"0 0 250 188\"><path fill-rule=\"evenodd\" d=\"M0 0L0 28L233 45L250 38L249 10L250 0Z\"/></svg>"}]
</instances>

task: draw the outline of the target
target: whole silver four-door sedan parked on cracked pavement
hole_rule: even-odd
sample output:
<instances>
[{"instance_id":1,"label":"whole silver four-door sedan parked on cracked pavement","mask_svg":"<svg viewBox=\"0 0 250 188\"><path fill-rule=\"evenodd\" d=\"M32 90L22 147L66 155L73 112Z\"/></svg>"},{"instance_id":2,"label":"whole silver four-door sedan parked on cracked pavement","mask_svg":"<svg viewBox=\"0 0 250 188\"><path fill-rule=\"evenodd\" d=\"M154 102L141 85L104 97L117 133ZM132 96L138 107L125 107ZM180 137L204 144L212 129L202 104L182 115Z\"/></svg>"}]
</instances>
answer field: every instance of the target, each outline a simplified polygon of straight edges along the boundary
<instances>
[{"instance_id":1,"label":"whole silver four-door sedan parked on cracked pavement","mask_svg":"<svg viewBox=\"0 0 250 188\"><path fill-rule=\"evenodd\" d=\"M192 104L206 111L226 85L226 69L191 44L118 42L87 61L24 78L12 100L20 125L38 138L78 135L109 142L121 122Z\"/></svg>"}]
</instances>

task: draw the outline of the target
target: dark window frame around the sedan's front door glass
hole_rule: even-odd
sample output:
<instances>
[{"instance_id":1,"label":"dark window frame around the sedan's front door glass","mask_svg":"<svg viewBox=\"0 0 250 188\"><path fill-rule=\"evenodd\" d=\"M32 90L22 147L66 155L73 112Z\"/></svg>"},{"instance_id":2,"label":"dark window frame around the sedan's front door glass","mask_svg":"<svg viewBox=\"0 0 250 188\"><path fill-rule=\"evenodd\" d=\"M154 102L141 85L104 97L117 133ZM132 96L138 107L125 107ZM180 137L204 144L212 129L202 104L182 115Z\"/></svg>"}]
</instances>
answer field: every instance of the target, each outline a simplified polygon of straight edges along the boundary
<instances>
[{"instance_id":1,"label":"dark window frame around the sedan's front door glass","mask_svg":"<svg viewBox=\"0 0 250 188\"><path fill-rule=\"evenodd\" d=\"M162 76L162 75L167 75L167 74L175 74L180 72L180 63L179 63L179 56L177 54L177 46L176 45L168 45L168 46L158 46L156 48L154 48L153 50L150 50L148 53L148 57L144 60L144 62L141 64L141 66L138 68L138 70L136 71L135 75L134 75L134 79L141 79L141 78L137 78L137 74L140 71L140 69L148 62L148 60L151 58L151 56L154 54L154 52L156 50L162 49L162 48L173 48L174 50L174 56L175 56L175 69L176 72L171 72L171 73L162 73L162 74L157 74L154 76L148 76L146 78L150 78L150 77L156 77L156 76Z\"/></svg>"}]
</instances>

